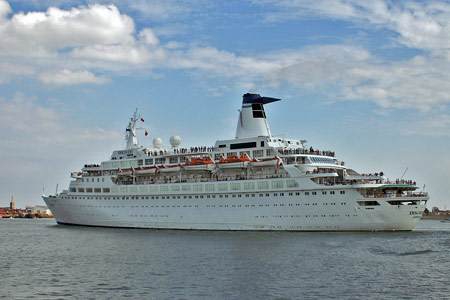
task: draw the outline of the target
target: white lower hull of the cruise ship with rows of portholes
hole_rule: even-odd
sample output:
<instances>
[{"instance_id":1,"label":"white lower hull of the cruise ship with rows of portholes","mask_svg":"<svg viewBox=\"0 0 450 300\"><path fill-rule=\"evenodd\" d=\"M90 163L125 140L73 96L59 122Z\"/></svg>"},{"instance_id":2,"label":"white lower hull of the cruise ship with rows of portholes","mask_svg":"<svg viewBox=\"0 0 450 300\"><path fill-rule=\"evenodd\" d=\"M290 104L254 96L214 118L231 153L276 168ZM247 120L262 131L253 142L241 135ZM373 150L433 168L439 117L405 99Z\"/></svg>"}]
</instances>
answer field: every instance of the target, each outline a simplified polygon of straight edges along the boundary
<instances>
[{"instance_id":1,"label":"white lower hull of the cruise ship with rows of portholes","mask_svg":"<svg viewBox=\"0 0 450 300\"><path fill-rule=\"evenodd\" d=\"M193 184L184 185L193 189ZM204 184L200 185L204 190ZM179 188L179 184L164 186L169 190L173 186ZM305 191L310 195L305 195ZM312 191L317 194L311 195ZM330 194L330 191L335 193ZM323 195L322 192L327 193ZM414 228L425 209L424 204L391 205L388 198L377 199L378 206L365 207L358 205L361 200L367 198L355 189L343 187L240 190L214 194L135 192L76 197L62 193L58 197L44 197L59 224L130 228L405 231ZM426 198L417 197L416 200L424 203L420 201Z\"/></svg>"}]
</instances>

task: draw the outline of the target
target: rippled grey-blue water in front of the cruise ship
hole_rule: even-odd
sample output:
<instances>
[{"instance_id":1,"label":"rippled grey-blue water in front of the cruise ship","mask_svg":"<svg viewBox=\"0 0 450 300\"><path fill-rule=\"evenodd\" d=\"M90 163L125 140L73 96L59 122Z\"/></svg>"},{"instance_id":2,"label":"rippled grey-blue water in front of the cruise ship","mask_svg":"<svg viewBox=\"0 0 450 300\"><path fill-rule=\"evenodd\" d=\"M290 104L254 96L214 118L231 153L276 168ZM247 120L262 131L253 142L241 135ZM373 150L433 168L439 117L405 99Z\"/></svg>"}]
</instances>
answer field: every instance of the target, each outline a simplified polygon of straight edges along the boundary
<instances>
[{"instance_id":1,"label":"rippled grey-blue water in front of the cruise ship","mask_svg":"<svg viewBox=\"0 0 450 300\"><path fill-rule=\"evenodd\" d=\"M450 223L412 232L114 229L0 219L0 299L449 299Z\"/></svg>"}]
</instances>

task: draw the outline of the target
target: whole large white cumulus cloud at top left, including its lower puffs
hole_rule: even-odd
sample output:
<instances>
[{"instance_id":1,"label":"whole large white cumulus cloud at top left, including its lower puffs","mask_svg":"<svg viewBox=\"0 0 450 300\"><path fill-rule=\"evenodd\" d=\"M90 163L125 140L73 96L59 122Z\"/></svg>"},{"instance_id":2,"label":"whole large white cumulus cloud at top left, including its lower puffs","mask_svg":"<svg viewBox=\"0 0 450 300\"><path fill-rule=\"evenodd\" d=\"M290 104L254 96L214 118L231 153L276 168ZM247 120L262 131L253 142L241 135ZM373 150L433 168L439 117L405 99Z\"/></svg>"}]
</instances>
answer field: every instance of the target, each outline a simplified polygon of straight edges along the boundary
<instances>
[{"instance_id":1,"label":"whole large white cumulus cloud at top left, including its lower puffs","mask_svg":"<svg viewBox=\"0 0 450 300\"><path fill-rule=\"evenodd\" d=\"M108 80L95 74L99 70L156 65L165 57L153 31L136 33L133 19L115 5L10 13L0 0L0 65L10 66L0 70L0 83L21 73L46 84L101 84Z\"/></svg>"}]
</instances>

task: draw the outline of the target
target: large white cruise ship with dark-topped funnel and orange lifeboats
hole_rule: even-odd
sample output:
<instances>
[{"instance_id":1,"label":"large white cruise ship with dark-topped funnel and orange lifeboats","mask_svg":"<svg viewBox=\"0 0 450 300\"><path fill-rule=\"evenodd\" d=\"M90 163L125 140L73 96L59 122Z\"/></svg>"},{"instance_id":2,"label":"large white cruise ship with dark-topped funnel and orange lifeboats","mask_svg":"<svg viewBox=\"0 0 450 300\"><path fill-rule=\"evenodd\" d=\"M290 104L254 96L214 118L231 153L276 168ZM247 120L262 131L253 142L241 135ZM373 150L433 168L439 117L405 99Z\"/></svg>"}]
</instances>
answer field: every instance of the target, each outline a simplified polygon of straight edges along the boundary
<instances>
[{"instance_id":1,"label":"large white cruise ship with dark-topped funnel and orange lifeboats","mask_svg":"<svg viewBox=\"0 0 450 300\"><path fill-rule=\"evenodd\" d=\"M143 119L126 127L125 149L71 173L67 190L43 195L58 224L196 230L408 231L429 197L412 180L363 174L334 152L273 136L264 106L243 95L236 137L214 146L138 143ZM147 134L147 132L145 132Z\"/></svg>"}]
</instances>

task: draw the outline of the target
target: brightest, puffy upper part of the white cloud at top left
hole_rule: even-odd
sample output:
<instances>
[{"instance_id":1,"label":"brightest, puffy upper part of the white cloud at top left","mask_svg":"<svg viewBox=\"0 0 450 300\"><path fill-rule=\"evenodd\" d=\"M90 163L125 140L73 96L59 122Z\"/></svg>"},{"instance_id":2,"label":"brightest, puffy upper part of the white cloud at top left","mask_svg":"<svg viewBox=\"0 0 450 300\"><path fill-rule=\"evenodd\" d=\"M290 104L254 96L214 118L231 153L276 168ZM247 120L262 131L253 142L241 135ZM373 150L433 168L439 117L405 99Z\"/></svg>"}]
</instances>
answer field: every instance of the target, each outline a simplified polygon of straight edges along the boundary
<instances>
[{"instance_id":1,"label":"brightest, puffy upper part of the white cloud at top left","mask_svg":"<svg viewBox=\"0 0 450 300\"><path fill-rule=\"evenodd\" d=\"M0 26L0 52L54 56L67 47L109 45L133 40L134 22L114 5L91 5L64 11L19 12Z\"/></svg>"}]
</instances>

